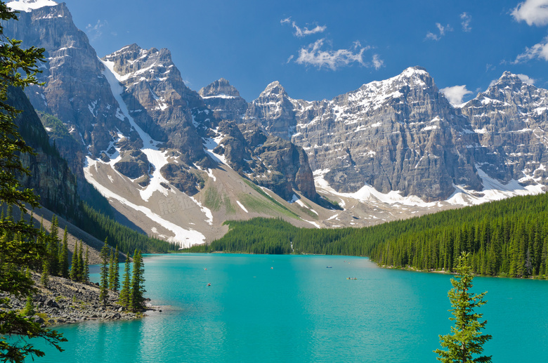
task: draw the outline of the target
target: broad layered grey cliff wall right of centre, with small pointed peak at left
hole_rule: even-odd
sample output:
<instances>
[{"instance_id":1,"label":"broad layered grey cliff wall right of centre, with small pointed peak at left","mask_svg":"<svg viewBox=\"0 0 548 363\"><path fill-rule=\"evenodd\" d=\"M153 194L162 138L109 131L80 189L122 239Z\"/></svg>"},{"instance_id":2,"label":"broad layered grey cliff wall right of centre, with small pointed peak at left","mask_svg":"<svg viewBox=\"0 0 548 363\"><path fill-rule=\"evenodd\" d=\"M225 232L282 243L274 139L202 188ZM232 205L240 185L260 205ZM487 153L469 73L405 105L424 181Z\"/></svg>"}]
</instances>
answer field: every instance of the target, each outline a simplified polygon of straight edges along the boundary
<instances>
[{"instance_id":1,"label":"broad layered grey cliff wall right of centre, with small pointed peak at left","mask_svg":"<svg viewBox=\"0 0 548 363\"><path fill-rule=\"evenodd\" d=\"M450 197L453 184L481 189L468 151L478 136L421 67L315 102L289 98L273 82L250 103L251 120L304 147L338 192L367 184L433 201Z\"/></svg>"}]
</instances>

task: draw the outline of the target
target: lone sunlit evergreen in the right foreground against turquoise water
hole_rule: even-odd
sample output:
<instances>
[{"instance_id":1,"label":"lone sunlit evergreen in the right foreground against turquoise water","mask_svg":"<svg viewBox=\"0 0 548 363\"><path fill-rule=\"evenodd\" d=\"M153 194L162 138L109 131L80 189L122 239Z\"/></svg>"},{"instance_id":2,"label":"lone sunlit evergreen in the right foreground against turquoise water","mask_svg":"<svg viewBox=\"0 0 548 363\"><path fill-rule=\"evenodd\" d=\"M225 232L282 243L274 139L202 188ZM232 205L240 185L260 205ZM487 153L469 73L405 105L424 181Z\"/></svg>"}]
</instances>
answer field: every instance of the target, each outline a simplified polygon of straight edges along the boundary
<instances>
[{"instance_id":1,"label":"lone sunlit evergreen in the right foreground against turquoise water","mask_svg":"<svg viewBox=\"0 0 548 363\"><path fill-rule=\"evenodd\" d=\"M444 363L491 362L492 356L474 358L474 355L483 352L483 344L492 337L489 334L481 334L481 329L485 329L487 321L478 322L483 314L474 312L487 302L483 300L487 291L477 295L469 292L474 279L468 264L469 256L469 253L462 253L458 259L458 275L451 279L453 288L450 289L448 296L452 306L449 311L453 317L449 319L455 322L455 326L451 326L451 334L440 336L441 346L447 350L434 351L439 355L437 359Z\"/></svg>"}]
</instances>

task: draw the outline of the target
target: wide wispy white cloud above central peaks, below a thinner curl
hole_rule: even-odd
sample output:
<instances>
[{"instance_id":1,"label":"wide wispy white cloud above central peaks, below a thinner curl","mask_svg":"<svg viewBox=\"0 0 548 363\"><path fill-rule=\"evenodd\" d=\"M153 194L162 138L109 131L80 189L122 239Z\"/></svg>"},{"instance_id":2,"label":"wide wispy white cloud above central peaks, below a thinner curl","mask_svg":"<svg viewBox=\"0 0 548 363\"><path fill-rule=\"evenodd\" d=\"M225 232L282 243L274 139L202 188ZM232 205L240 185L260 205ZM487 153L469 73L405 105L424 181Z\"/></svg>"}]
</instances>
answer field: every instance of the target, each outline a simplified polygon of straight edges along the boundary
<instances>
[{"instance_id":1,"label":"wide wispy white cloud above central peaks, below a thinner curl","mask_svg":"<svg viewBox=\"0 0 548 363\"><path fill-rule=\"evenodd\" d=\"M355 41L354 45L349 49L339 49L337 51L323 50L325 39L319 39L312 44L308 44L305 48L299 50L299 57L295 60L301 65L312 65L321 69L323 67L337 70L339 67L350 65L358 62L360 65L367 67L363 61L363 52L369 49L369 46L362 47L359 41ZM377 65L381 67L382 60L377 57Z\"/></svg>"}]
</instances>

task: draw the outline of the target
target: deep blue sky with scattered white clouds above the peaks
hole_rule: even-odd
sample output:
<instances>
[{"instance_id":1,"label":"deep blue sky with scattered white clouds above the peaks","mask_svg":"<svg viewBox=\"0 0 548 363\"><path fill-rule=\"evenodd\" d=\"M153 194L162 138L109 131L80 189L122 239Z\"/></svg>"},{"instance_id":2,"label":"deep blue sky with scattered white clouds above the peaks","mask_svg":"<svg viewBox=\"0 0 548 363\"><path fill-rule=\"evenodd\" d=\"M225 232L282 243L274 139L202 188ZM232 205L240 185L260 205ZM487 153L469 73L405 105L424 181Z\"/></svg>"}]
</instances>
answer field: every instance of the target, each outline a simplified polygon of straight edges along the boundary
<instances>
[{"instance_id":1,"label":"deep blue sky with scattered white clouds above the peaks","mask_svg":"<svg viewBox=\"0 0 548 363\"><path fill-rule=\"evenodd\" d=\"M548 0L65 2L99 56L169 48L190 88L223 77L247 101L271 81L330 99L414 65L455 102L505 70L548 88Z\"/></svg>"}]
</instances>

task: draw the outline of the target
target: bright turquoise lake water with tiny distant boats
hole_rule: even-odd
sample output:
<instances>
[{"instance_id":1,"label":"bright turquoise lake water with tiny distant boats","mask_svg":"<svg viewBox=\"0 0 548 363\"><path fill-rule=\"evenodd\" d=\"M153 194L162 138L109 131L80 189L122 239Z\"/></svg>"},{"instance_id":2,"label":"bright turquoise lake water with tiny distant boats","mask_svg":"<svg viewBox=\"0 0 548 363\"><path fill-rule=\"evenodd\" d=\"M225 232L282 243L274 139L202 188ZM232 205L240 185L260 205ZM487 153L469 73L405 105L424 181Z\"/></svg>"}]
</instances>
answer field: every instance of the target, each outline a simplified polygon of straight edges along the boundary
<instances>
[{"instance_id":1,"label":"bright turquoise lake water with tiny distant boats","mask_svg":"<svg viewBox=\"0 0 548 363\"><path fill-rule=\"evenodd\" d=\"M145 279L145 296L162 312L58 327L65 352L37 341L46 357L36 361L437 362L438 334L452 324L450 276L381 269L367 258L145 256ZM497 363L546 362L548 281L474 283L474 292L489 291L478 310L493 336L484 352Z\"/></svg>"}]
</instances>

